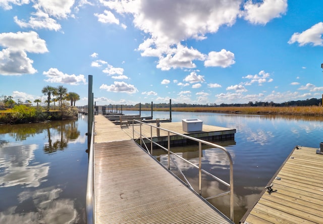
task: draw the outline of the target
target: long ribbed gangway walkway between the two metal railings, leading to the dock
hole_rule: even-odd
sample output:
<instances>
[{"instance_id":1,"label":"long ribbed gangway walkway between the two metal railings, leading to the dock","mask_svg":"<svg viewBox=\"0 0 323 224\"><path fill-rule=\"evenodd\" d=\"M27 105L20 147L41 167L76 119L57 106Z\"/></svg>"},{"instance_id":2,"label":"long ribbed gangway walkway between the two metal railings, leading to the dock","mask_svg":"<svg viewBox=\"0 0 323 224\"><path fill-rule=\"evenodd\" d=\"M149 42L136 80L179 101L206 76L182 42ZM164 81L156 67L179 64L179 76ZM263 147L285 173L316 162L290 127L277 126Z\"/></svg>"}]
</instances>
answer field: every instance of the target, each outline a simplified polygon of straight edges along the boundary
<instances>
[{"instance_id":1,"label":"long ribbed gangway walkway between the two metal railings, leading to the dock","mask_svg":"<svg viewBox=\"0 0 323 224\"><path fill-rule=\"evenodd\" d=\"M95 116L95 223L233 223L139 147Z\"/></svg>"}]
</instances>

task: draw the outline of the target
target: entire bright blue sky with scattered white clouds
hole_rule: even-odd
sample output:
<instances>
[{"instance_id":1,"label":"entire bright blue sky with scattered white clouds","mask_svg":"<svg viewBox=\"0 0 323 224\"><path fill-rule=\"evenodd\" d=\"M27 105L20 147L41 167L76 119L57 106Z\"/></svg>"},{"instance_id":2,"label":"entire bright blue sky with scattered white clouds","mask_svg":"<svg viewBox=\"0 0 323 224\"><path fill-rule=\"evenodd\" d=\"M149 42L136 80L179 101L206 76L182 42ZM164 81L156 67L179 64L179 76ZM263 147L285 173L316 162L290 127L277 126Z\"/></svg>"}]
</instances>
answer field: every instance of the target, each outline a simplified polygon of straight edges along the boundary
<instances>
[{"instance_id":1,"label":"entire bright blue sky with scattered white clouds","mask_svg":"<svg viewBox=\"0 0 323 224\"><path fill-rule=\"evenodd\" d=\"M323 5L302 0L0 0L0 95L87 104L321 98Z\"/></svg>"}]
</instances>

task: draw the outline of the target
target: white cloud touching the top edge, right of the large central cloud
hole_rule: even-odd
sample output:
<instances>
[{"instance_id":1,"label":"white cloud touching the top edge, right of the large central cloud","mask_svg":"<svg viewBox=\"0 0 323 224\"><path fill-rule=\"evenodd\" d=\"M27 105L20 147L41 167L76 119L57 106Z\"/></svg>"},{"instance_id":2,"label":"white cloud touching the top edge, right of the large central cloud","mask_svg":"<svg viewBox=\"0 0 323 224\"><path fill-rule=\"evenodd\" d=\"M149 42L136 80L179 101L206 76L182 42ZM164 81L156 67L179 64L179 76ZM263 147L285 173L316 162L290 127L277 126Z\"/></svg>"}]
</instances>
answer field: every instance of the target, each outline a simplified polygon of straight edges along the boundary
<instances>
[{"instance_id":1,"label":"white cloud touching the top edge, right of the large central cloud","mask_svg":"<svg viewBox=\"0 0 323 224\"><path fill-rule=\"evenodd\" d=\"M243 6L243 17L253 24L265 25L274 18L280 18L286 14L287 0L263 0L253 4L249 0Z\"/></svg>"}]
</instances>

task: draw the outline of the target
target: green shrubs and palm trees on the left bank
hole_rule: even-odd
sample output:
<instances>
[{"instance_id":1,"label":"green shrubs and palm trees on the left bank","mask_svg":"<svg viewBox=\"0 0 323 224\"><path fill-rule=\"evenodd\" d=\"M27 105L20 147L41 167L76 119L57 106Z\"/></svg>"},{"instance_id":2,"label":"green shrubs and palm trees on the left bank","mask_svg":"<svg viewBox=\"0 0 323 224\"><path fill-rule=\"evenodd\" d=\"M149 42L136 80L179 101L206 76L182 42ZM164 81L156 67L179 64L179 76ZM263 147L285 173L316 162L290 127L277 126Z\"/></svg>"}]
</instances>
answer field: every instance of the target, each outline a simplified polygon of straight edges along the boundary
<instances>
[{"instance_id":1,"label":"green shrubs and palm trees on the left bank","mask_svg":"<svg viewBox=\"0 0 323 224\"><path fill-rule=\"evenodd\" d=\"M52 87L45 86L41 92L47 96L44 108L41 106L41 99L35 99L37 106L32 106L30 100L22 103L20 99L15 102L12 96L0 97L0 124L19 124L34 123L47 120L65 120L77 117L77 108L75 101L80 99L77 93L72 93L73 98L70 99L67 88L63 86ZM71 100L68 105L65 100ZM59 110L56 109L55 103L59 102ZM53 103L53 106L50 105Z\"/></svg>"}]
</instances>

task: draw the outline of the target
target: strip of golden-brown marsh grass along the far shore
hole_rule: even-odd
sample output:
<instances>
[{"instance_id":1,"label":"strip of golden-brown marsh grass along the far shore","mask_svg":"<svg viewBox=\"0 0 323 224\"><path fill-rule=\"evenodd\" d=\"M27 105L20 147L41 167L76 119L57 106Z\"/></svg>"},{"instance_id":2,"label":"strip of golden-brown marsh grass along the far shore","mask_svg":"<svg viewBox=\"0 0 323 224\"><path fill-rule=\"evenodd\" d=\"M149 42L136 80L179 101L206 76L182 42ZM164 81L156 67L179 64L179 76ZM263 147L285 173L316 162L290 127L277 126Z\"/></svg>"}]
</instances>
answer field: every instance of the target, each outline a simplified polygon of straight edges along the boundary
<instances>
[{"instance_id":1,"label":"strip of golden-brown marsh grass along the far shore","mask_svg":"<svg viewBox=\"0 0 323 224\"><path fill-rule=\"evenodd\" d=\"M141 108L150 111L151 108ZM123 110L127 110L124 108ZM131 108L129 110L135 110ZM169 111L169 108L153 108L154 111ZM323 116L321 106L243 106L243 107L172 107L172 111L181 112L211 112L211 113L239 113L239 114L263 114L263 115L308 115Z\"/></svg>"}]
</instances>

